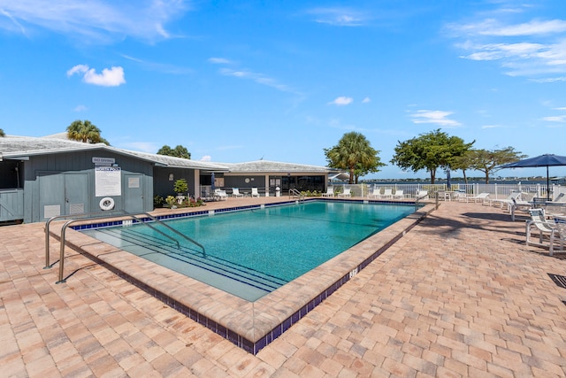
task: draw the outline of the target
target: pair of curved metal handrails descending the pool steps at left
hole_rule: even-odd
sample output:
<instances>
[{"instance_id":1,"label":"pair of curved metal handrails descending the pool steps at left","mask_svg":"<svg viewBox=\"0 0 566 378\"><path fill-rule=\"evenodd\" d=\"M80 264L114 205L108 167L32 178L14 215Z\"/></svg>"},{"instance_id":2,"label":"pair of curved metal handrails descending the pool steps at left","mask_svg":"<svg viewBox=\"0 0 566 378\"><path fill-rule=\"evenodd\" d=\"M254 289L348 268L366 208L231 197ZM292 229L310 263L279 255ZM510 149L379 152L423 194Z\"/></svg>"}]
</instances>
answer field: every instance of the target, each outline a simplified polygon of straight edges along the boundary
<instances>
[{"instance_id":1,"label":"pair of curved metal handrails descending the pool steps at left","mask_svg":"<svg viewBox=\"0 0 566 378\"><path fill-rule=\"evenodd\" d=\"M122 211L119 211L122 212ZM172 237L172 235L167 235L165 234L163 231L153 227L148 221L143 220L143 219L139 219L137 218L138 215L143 215L144 217L149 218L150 220L153 220L154 222L156 222L159 225L164 226L164 228L167 228L169 230L171 230L173 233L180 235L183 239L187 240L190 243L194 243L196 246L200 247L203 250L203 257L206 257L206 251L204 250L204 246L201 243L196 242L195 240L191 239L190 237L188 237L187 235L181 234L178 230L176 230L175 228L172 228L171 226L165 224L164 222L162 222L161 220L158 220L156 217L154 217L153 215L150 215L147 212L140 212L137 214L130 214L127 212L124 212L122 214L119 215L114 215L111 217L96 217L94 219L105 219L105 220L109 220L109 219L113 219L113 218L123 218L123 217L127 217L130 218L131 220L134 220L136 223L142 224L144 226L147 226L151 229L153 229L154 231L156 231L157 233L164 235L165 237L171 239L173 242L177 243L177 248L180 248L180 243L177 239L175 239L174 237ZM53 218L62 218L62 217L53 217ZM61 235L60 235L60 250L59 250L59 280L55 283L64 283L66 280L63 278L63 274L65 272L65 231L66 228L68 228L71 224L73 224L74 222L78 222L78 221L83 221L83 220L92 220L93 218L78 218L78 219L73 219L73 220L68 220L65 222L65 225L63 225L63 228L61 228ZM48 222L50 222L53 219L48 220ZM52 266L49 265L49 260L50 260L50 247L49 247L49 227L46 225L46 242L45 242L45 260L46 260L46 266L45 268L50 268Z\"/></svg>"}]
</instances>

